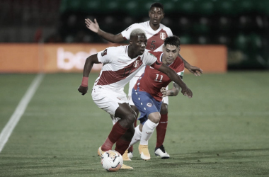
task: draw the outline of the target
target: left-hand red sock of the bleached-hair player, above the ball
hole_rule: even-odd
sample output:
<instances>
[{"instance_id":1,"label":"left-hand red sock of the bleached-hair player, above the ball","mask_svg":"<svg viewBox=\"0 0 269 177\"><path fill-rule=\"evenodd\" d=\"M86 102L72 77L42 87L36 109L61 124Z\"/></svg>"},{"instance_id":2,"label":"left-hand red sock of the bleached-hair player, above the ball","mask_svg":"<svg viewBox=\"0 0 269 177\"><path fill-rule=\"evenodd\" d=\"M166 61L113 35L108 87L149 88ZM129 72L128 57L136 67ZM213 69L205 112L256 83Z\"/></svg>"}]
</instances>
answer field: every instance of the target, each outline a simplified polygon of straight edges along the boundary
<instances>
[{"instance_id":1,"label":"left-hand red sock of the bleached-hair player, above the ball","mask_svg":"<svg viewBox=\"0 0 269 177\"><path fill-rule=\"evenodd\" d=\"M113 125L112 130L110 134L108 135L108 138L103 143L101 149L103 152L106 152L110 149L112 149L113 144L122 137L123 134L127 131L127 128L122 127L119 122L116 122L115 125ZM127 149L127 148L126 148Z\"/></svg>"}]
</instances>

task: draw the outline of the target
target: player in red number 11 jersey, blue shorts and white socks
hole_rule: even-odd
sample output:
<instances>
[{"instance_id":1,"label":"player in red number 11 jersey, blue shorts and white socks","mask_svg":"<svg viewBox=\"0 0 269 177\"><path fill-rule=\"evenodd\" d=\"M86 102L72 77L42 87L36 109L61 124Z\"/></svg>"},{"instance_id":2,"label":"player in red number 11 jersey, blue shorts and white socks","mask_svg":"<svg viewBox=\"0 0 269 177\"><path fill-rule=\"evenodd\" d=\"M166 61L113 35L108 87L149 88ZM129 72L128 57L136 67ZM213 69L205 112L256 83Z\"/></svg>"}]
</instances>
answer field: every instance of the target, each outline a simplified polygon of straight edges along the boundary
<instances>
[{"instance_id":1,"label":"player in red number 11 jersey, blue shorts and white socks","mask_svg":"<svg viewBox=\"0 0 269 177\"><path fill-rule=\"evenodd\" d=\"M182 59L178 57L179 51L180 39L176 36L171 36L164 40L163 52L150 53L157 57L158 62L162 62L173 69L182 79L184 64ZM173 90L167 91L166 86L170 82L171 79L166 74L150 66L146 66L144 74L140 76L132 89L132 101L139 109L141 115L138 118L140 124L135 127L135 135L132 138L130 146L140 140L139 154L144 160L150 159L148 141L161 119L159 111L161 109L162 98L176 96L180 89L178 84L173 83ZM168 156L161 156L161 158L167 159Z\"/></svg>"}]
</instances>

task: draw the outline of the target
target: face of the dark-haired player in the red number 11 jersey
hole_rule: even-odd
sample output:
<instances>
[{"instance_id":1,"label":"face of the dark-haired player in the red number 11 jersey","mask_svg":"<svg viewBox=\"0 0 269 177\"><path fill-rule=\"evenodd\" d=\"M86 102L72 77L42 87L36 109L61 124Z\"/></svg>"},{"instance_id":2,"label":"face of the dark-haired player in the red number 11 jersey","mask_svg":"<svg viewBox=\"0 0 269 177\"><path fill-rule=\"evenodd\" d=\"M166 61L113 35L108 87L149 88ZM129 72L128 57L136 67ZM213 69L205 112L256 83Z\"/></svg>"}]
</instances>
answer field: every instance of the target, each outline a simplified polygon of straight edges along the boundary
<instances>
[{"instance_id":1,"label":"face of the dark-haired player in the red number 11 jersey","mask_svg":"<svg viewBox=\"0 0 269 177\"><path fill-rule=\"evenodd\" d=\"M178 52L181 48L176 47L176 45L166 45L163 47L163 62L164 64L171 64L178 57Z\"/></svg>"}]
</instances>

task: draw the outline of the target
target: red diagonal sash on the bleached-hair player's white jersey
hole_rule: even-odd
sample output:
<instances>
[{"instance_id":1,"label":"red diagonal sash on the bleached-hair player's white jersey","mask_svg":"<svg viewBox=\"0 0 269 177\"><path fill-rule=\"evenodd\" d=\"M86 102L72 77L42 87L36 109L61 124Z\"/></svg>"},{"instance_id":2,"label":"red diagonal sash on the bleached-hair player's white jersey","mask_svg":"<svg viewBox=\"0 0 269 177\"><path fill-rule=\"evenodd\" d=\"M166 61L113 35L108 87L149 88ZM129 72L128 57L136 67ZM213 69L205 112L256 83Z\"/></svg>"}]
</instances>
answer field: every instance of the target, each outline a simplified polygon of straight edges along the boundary
<instances>
[{"instance_id":1,"label":"red diagonal sash on the bleached-hair player's white jersey","mask_svg":"<svg viewBox=\"0 0 269 177\"><path fill-rule=\"evenodd\" d=\"M98 79L97 85L108 85L127 78L132 72L135 72L143 64L141 57L137 57L131 64L118 71L103 71Z\"/></svg>"}]
</instances>

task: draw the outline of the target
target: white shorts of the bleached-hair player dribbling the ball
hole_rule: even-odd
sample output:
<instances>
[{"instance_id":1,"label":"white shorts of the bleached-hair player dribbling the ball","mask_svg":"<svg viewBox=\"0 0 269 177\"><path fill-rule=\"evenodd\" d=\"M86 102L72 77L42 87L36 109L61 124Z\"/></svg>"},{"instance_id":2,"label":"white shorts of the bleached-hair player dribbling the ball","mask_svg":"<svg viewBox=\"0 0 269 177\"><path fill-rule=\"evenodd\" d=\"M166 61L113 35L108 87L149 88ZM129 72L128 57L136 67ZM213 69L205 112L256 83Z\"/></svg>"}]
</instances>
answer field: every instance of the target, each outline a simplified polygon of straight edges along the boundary
<instances>
[{"instance_id":1,"label":"white shorts of the bleached-hair player dribbling the ball","mask_svg":"<svg viewBox=\"0 0 269 177\"><path fill-rule=\"evenodd\" d=\"M105 112L109 113L113 117L115 116L115 111L119 107L118 103L128 103L126 93L124 93L124 91L111 91L110 89L105 89L98 85L93 86L91 96L98 108L105 110Z\"/></svg>"}]
</instances>

